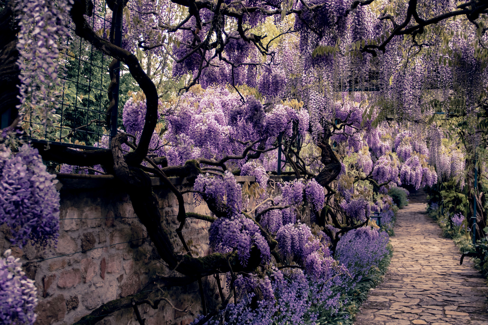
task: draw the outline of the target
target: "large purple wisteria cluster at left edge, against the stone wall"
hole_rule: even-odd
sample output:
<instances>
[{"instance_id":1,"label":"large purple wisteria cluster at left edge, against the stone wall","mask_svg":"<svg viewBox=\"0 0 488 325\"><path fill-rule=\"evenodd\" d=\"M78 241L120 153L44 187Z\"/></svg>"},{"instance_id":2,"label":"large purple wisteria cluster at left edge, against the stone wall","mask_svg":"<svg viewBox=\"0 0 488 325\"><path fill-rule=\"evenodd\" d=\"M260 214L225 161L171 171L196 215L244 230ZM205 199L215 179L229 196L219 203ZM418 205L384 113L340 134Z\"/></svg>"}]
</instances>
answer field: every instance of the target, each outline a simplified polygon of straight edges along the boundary
<instances>
[{"instance_id":1,"label":"large purple wisteria cluster at left edge, against the stone wall","mask_svg":"<svg viewBox=\"0 0 488 325\"><path fill-rule=\"evenodd\" d=\"M13 244L57 242L60 196L55 177L46 171L37 149L24 144L12 153L0 145L0 224L9 227Z\"/></svg>"}]
</instances>

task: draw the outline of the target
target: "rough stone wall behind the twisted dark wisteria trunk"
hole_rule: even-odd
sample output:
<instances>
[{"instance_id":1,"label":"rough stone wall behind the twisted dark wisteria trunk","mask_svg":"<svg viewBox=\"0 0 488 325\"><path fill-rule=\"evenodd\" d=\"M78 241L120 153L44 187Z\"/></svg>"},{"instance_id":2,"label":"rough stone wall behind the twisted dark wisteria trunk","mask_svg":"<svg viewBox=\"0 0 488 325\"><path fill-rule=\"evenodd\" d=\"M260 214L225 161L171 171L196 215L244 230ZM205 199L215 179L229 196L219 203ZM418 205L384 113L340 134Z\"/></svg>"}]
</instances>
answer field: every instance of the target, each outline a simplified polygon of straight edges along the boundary
<instances>
[{"instance_id":1,"label":"rough stone wall behind the twisted dark wisteria trunk","mask_svg":"<svg viewBox=\"0 0 488 325\"><path fill-rule=\"evenodd\" d=\"M0 232L0 249L11 248L20 257L29 278L38 287L37 325L72 324L94 308L114 299L139 292L157 274L176 276L163 265L147 237L147 232L132 209L128 195L112 179L60 179L61 223L56 248L36 250L31 245L11 247L8 229ZM174 180L179 190L190 187ZM154 180L154 192L168 229L177 229L176 197ZM192 193L183 194L187 212L209 215L195 204ZM200 256L208 253L209 222L188 219L184 227L191 249ZM180 243L176 234L174 242ZM176 273L176 272L175 272ZM216 291L213 277L203 279L208 294ZM158 309L139 306L146 325L189 324L202 313L197 283L166 290L165 297L178 309L163 301ZM212 304L210 299L208 304ZM108 315L98 324L138 324L132 308Z\"/></svg>"}]
</instances>

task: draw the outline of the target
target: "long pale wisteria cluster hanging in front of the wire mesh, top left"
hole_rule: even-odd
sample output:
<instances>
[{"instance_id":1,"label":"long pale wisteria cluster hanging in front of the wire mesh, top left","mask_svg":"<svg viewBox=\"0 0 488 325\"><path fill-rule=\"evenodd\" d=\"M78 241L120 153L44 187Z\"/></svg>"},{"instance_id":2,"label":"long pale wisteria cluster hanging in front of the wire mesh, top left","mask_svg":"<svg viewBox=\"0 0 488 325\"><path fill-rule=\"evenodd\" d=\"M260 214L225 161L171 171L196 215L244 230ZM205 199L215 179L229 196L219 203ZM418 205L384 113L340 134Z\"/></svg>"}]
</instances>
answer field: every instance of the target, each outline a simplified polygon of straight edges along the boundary
<instances>
[{"instance_id":1,"label":"long pale wisteria cluster hanging in front of the wire mesh, top left","mask_svg":"<svg viewBox=\"0 0 488 325\"><path fill-rule=\"evenodd\" d=\"M20 32L17 48L21 54L18 64L20 102L24 109L41 108L44 122L56 113L57 91L63 85L59 58L70 33L68 1L17 1ZM61 43L59 43L61 41ZM53 107L54 103L54 107ZM32 111L36 114L36 111ZM32 116L30 116L32 118Z\"/></svg>"}]
</instances>

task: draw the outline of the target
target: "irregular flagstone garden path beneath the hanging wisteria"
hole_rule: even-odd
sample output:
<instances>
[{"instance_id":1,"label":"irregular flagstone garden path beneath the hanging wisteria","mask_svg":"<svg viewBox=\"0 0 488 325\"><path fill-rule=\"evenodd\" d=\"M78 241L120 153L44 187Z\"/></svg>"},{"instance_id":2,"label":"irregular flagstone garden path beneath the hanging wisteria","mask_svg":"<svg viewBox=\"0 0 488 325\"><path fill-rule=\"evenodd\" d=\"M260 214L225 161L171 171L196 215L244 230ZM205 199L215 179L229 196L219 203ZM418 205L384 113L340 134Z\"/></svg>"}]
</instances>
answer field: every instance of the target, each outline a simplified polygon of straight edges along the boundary
<instances>
[{"instance_id":1,"label":"irregular flagstone garden path beneath the hanging wisteria","mask_svg":"<svg viewBox=\"0 0 488 325\"><path fill-rule=\"evenodd\" d=\"M385 282L371 290L354 325L488 325L488 287L481 274L425 212L398 212Z\"/></svg>"}]
</instances>

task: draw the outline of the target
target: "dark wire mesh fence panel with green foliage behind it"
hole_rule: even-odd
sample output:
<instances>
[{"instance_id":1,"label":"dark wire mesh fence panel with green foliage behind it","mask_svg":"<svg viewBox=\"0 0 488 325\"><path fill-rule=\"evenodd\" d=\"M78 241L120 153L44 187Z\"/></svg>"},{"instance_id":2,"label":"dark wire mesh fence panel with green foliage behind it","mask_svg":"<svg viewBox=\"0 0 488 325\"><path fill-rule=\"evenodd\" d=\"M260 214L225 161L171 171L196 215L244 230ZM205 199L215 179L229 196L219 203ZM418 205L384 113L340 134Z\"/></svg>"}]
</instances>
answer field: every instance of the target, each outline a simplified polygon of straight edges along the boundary
<instances>
[{"instance_id":1,"label":"dark wire mesh fence panel with green foliage behind it","mask_svg":"<svg viewBox=\"0 0 488 325\"><path fill-rule=\"evenodd\" d=\"M105 0L95 0L93 14L89 19L93 30L106 37L111 24L111 11ZM98 8L97 10L95 8ZM102 8L102 9L100 9ZM71 30L64 52L64 85L59 90L58 107L53 121L32 117L32 110L24 118L29 123L27 136L32 141L63 145L79 149L96 149L109 145L117 132L118 107L115 119L107 113L109 106L108 87L111 81L109 64L112 57L97 50L91 43ZM119 71L116 71L118 74ZM118 84L115 87L118 92ZM110 129L107 120L112 120Z\"/></svg>"}]
</instances>

